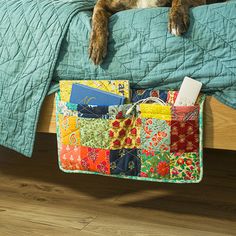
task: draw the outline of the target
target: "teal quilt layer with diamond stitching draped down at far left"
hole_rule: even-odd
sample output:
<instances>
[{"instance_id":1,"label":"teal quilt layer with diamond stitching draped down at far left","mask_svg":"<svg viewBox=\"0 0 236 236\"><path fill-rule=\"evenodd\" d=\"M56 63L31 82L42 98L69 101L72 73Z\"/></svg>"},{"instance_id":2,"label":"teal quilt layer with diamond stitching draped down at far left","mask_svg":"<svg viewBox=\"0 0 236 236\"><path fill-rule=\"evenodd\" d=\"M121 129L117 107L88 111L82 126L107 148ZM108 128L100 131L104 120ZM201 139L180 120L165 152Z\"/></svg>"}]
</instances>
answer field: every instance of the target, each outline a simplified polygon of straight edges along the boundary
<instances>
[{"instance_id":1,"label":"teal quilt layer with diamond stitching draped down at far left","mask_svg":"<svg viewBox=\"0 0 236 236\"><path fill-rule=\"evenodd\" d=\"M94 1L0 0L0 144L32 155L39 110L73 15Z\"/></svg>"}]
</instances>

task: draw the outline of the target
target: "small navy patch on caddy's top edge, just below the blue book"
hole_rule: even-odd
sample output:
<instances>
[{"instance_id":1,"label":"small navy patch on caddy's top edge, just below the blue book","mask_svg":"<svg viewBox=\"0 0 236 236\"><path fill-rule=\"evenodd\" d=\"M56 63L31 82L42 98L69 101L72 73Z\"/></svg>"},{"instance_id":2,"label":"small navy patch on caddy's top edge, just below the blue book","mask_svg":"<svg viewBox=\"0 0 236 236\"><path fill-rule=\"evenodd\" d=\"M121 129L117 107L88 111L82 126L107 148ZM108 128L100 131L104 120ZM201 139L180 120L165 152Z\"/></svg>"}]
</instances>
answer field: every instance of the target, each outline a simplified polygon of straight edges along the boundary
<instances>
[{"instance_id":1,"label":"small navy patch on caddy's top edge, just below the blue book","mask_svg":"<svg viewBox=\"0 0 236 236\"><path fill-rule=\"evenodd\" d=\"M83 118L102 118L108 119L108 107L107 106L91 106L82 105L77 106L78 116Z\"/></svg>"}]
</instances>

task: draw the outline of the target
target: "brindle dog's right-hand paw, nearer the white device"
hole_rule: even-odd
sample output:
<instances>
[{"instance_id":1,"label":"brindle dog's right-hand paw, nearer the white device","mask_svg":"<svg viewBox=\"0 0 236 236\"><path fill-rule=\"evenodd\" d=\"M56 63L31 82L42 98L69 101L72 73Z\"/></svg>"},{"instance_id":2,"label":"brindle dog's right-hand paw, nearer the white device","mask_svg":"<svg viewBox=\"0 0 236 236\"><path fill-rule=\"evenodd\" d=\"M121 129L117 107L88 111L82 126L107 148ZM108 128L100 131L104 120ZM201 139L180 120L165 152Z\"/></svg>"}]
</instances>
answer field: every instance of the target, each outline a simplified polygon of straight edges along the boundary
<instances>
[{"instance_id":1,"label":"brindle dog's right-hand paw, nearer the white device","mask_svg":"<svg viewBox=\"0 0 236 236\"><path fill-rule=\"evenodd\" d=\"M171 9L169 15L169 32L175 36L180 36L187 32L189 28L189 15L182 8Z\"/></svg>"}]
</instances>

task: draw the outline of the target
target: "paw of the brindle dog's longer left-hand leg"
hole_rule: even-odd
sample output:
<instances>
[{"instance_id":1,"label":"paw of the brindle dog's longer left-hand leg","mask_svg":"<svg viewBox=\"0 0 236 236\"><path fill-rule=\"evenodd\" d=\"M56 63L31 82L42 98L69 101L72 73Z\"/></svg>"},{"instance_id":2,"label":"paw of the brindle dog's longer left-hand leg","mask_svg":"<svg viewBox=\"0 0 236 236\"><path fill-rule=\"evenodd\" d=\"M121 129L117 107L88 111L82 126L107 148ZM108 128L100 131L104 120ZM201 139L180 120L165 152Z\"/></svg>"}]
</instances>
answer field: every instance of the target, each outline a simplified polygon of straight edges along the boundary
<instances>
[{"instance_id":1,"label":"paw of the brindle dog's longer left-hand leg","mask_svg":"<svg viewBox=\"0 0 236 236\"><path fill-rule=\"evenodd\" d=\"M89 57L95 65L100 65L107 55L107 38L91 35L89 45Z\"/></svg>"}]
</instances>

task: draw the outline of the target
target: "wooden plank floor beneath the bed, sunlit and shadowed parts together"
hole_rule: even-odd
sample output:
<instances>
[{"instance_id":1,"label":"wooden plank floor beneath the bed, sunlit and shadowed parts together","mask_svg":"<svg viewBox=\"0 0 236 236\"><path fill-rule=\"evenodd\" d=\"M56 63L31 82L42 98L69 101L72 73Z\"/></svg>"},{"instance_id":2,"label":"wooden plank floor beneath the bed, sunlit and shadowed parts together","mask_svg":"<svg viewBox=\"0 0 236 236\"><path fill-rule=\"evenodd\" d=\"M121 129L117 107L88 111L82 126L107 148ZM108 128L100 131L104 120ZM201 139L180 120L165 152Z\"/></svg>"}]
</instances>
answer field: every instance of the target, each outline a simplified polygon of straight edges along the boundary
<instances>
[{"instance_id":1,"label":"wooden plank floor beneath the bed, sunlit and shadowed parts together","mask_svg":"<svg viewBox=\"0 0 236 236\"><path fill-rule=\"evenodd\" d=\"M236 152L205 151L201 184L64 174L55 135L32 159L0 148L0 236L236 235Z\"/></svg>"}]
</instances>

